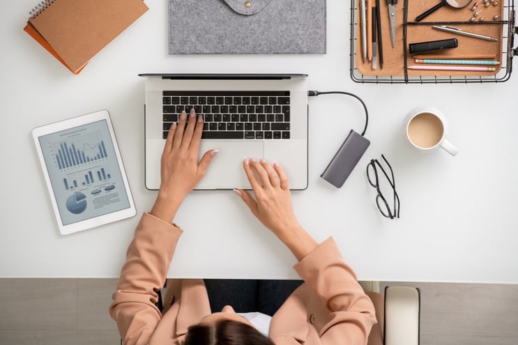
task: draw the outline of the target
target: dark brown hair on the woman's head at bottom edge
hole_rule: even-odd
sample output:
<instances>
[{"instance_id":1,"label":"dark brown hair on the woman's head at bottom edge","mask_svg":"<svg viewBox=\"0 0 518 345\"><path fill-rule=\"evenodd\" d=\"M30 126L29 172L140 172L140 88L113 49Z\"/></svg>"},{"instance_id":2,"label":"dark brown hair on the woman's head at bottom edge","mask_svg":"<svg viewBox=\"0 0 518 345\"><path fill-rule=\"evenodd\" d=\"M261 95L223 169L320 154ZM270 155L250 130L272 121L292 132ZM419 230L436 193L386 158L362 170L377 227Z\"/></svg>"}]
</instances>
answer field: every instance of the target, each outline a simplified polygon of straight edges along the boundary
<instances>
[{"instance_id":1,"label":"dark brown hair on the woman's head at bottom edge","mask_svg":"<svg viewBox=\"0 0 518 345\"><path fill-rule=\"evenodd\" d=\"M270 338L246 323L221 320L213 324L192 325L185 345L274 345Z\"/></svg>"}]
</instances>

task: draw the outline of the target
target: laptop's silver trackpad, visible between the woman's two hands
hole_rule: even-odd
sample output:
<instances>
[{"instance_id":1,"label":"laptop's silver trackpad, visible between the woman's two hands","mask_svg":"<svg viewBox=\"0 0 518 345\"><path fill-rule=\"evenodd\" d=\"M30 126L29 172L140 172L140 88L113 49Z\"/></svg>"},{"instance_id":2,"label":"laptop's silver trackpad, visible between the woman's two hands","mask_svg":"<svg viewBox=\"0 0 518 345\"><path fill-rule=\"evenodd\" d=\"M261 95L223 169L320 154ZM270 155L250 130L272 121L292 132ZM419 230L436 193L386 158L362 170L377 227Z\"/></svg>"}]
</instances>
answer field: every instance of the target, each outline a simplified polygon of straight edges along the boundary
<instances>
[{"instance_id":1,"label":"laptop's silver trackpad, visible between the woman's two hands","mask_svg":"<svg viewBox=\"0 0 518 345\"><path fill-rule=\"evenodd\" d=\"M264 158L262 141L201 141L200 157L206 151L218 150L197 189L250 188L243 160Z\"/></svg>"}]
</instances>

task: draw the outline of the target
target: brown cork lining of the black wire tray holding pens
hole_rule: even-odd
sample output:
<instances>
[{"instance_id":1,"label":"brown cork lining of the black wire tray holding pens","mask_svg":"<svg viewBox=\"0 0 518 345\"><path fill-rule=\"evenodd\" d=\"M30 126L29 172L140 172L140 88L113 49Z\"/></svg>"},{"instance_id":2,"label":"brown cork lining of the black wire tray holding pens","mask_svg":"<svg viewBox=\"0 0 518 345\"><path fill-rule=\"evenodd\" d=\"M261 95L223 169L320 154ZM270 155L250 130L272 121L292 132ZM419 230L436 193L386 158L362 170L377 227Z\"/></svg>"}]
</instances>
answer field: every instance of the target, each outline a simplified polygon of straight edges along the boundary
<instances>
[{"instance_id":1,"label":"brown cork lining of the black wire tray holding pens","mask_svg":"<svg viewBox=\"0 0 518 345\"><path fill-rule=\"evenodd\" d=\"M362 0L359 0L362 1ZM376 1L370 0L373 6ZM448 5L442 6L425 19L418 22L416 17L429 8L434 7L441 0L399 0L396 4L395 20L395 47L390 43L390 24L387 2L380 1L381 40L383 43L383 68L379 66L372 68L370 61L363 61L362 40L360 39L361 27L357 28L356 40L356 66L360 73L368 76L479 76L496 75L501 69L502 59L502 37L503 37L503 1L489 1L487 5L484 0L473 0L464 8L452 8ZM473 9L475 3L478 6ZM359 6L359 2L356 4ZM359 8L359 7L358 7ZM357 25L360 26L360 10L357 11ZM367 21L369 23L370 21ZM470 33L478 33L484 36L498 38L496 41L482 40L468 36L461 36L456 33L439 31L432 26L453 26ZM409 66L416 66L418 63L415 57L409 54L409 44L421 43L433 40L445 40L456 38L458 46L451 49L443 49L435 52L419 54L425 59L485 59L496 61L489 71L466 71L466 70L412 70ZM426 56L425 56L426 55ZM425 65L425 64L421 64ZM429 66L429 65L427 65ZM434 65L435 66L435 65ZM460 66L460 65L441 65ZM488 66L489 67L489 66Z\"/></svg>"}]
</instances>

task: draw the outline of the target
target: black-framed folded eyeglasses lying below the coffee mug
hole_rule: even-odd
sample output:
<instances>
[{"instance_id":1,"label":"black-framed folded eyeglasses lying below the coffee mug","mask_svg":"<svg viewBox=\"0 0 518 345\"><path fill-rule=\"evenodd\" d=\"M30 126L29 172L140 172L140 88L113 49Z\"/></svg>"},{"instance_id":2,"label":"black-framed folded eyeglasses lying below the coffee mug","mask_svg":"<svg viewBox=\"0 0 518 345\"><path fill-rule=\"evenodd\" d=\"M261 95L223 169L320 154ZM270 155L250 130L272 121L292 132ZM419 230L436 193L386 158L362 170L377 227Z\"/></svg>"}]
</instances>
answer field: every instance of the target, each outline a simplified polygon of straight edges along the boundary
<instances>
[{"instance_id":1,"label":"black-framed folded eyeglasses lying below the coffee mug","mask_svg":"<svg viewBox=\"0 0 518 345\"><path fill-rule=\"evenodd\" d=\"M388 165L388 168L390 169L390 177L388 177L388 174L386 173L385 169L381 166L379 160L370 160L370 163L367 164L367 179L369 180L370 185L372 187L376 188L376 191L378 194L376 195L376 206L378 206L379 212L384 217L390 218L393 220L394 218L399 218L399 196L396 192L396 183L394 180L394 171L392 170L392 167L390 167L390 164L388 164L388 161L386 160L384 155L381 155L381 158L386 162ZM379 187L379 175L378 175L378 169L383 172L383 175L387 178L388 183L390 184L390 187L392 187L393 190L393 208L390 208L388 206L388 202L386 197L381 192L381 189Z\"/></svg>"}]
</instances>

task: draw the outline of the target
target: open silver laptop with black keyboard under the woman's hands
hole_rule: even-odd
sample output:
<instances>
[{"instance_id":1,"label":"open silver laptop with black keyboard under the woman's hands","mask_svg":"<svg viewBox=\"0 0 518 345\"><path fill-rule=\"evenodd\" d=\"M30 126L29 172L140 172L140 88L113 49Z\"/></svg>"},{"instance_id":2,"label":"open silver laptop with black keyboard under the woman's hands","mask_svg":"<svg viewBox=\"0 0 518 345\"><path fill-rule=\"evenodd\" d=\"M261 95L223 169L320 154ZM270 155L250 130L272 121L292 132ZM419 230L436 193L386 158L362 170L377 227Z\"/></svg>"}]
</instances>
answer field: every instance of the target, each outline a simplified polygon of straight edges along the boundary
<instances>
[{"instance_id":1,"label":"open silver laptop with black keyboard under the woman's hands","mask_svg":"<svg viewBox=\"0 0 518 345\"><path fill-rule=\"evenodd\" d=\"M217 149L197 190L250 189L243 159L279 162L307 187L307 75L141 74L146 78L145 184L160 187L167 132L182 110L204 116L199 157Z\"/></svg>"}]
</instances>

